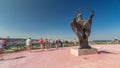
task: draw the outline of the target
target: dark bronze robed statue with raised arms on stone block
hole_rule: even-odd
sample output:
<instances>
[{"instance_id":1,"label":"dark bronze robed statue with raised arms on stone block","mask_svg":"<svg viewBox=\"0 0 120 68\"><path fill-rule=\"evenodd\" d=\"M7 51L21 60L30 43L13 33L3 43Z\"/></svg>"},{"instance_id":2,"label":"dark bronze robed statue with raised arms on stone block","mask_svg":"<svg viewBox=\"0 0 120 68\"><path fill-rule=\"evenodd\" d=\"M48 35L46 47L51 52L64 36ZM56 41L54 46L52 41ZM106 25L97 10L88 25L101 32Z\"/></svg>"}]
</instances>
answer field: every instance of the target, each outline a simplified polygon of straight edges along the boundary
<instances>
[{"instance_id":1,"label":"dark bronze robed statue with raised arms on stone block","mask_svg":"<svg viewBox=\"0 0 120 68\"><path fill-rule=\"evenodd\" d=\"M92 14L90 15L87 21L82 19L82 14L79 12L73 18L73 22L71 23L72 30L76 33L80 49L87 49L91 48L88 44L88 37L90 36L91 32L91 24L92 18L94 16L94 11L89 9Z\"/></svg>"}]
</instances>

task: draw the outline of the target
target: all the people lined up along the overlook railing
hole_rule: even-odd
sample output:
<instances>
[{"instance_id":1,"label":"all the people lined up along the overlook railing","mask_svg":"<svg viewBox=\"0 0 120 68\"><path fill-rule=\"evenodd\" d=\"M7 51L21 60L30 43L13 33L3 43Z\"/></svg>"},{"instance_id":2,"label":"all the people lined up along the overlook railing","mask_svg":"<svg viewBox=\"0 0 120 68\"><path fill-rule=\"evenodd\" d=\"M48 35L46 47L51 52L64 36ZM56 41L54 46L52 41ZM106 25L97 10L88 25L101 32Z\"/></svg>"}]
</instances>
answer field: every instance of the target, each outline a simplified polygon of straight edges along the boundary
<instances>
[{"instance_id":1,"label":"all the people lined up along the overlook railing","mask_svg":"<svg viewBox=\"0 0 120 68\"><path fill-rule=\"evenodd\" d=\"M7 49L7 45L8 45L9 42L7 42L6 39L0 39L0 54L2 53L2 51L4 49ZM40 38L37 43L39 43L40 45L40 48L42 49L42 51L44 49L49 49L49 48L52 48L54 45L56 49L58 49L60 46L61 47L64 47L64 41L63 40L49 40L49 39L43 39L43 38ZM15 45L15 44L13 44ZM33 46L33 41L31 38L28 38L26 39L25 41L25 48L27 51L31 51L31 47ZM18 46L17 46L18 48Z\"/></svg>"}]
</instances>

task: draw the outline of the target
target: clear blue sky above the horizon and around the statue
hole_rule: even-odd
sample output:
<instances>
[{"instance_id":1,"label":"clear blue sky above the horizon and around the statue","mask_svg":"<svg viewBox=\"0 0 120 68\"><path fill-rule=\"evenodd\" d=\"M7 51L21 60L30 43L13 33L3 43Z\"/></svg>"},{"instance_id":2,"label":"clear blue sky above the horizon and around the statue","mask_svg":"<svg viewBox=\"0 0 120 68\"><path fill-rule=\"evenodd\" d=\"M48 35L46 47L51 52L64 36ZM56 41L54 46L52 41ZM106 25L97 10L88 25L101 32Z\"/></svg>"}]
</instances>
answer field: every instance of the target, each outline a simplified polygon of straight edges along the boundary
<instances>
[{"instance_id":1,"label":"clear blue sky above the horizon and around the statue","mask_svg":"<svg viewBox=\"0 0 120 68\"><path fill-rule=\"evenodd\" d=\"M91 40L120 37L120 0L0 0L0 37L76 38L71 22L81 7L95 11Z\"/></svg>"}]
</instances>

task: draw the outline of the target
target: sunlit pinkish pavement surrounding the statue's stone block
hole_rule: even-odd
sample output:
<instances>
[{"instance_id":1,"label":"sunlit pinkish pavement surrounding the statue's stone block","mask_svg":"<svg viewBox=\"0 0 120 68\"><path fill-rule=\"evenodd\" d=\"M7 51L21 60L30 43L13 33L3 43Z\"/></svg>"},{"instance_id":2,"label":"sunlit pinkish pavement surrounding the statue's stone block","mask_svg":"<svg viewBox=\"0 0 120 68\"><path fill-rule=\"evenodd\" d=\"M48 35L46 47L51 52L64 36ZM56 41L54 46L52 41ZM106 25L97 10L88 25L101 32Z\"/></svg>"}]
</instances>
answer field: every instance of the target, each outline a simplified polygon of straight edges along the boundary
<instances>
[{"instance_id":1,"label":"sunlit pinkish pavement surrounding the statue's stone block","mask_svg":"<svg viewBox=\"0 0 120 68\"><path fill-rule=\"evenodd\" d=\"M70 48L4 54L0 68L120 68L120 45L92 45L99 54L73 56ZM1 59L1 57L0 57Z\"/></svg>"}]
</instances>

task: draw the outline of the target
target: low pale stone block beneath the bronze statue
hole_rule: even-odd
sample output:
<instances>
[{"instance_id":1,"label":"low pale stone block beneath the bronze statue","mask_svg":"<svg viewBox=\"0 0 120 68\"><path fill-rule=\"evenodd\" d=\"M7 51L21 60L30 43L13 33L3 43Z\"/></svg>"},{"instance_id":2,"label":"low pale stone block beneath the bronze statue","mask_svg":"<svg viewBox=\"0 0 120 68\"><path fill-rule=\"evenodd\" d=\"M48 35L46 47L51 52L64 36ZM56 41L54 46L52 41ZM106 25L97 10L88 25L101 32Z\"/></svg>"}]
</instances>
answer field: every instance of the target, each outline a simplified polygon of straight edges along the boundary
<instances>
[{"instance_id":1,"label":"low pale stone block beneath the bronze statue","mask_svg":"<svg viewBox=\"0 0 120 68\"><path fill-rule=\"evenodd\" d=\"M91 49L71 48L71 54L75 56L97 54L97 53L98 53L97 49L95 48L91 48Z\"/></svg>"}]
</instances>

